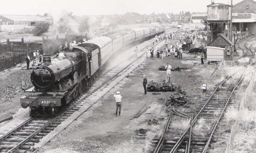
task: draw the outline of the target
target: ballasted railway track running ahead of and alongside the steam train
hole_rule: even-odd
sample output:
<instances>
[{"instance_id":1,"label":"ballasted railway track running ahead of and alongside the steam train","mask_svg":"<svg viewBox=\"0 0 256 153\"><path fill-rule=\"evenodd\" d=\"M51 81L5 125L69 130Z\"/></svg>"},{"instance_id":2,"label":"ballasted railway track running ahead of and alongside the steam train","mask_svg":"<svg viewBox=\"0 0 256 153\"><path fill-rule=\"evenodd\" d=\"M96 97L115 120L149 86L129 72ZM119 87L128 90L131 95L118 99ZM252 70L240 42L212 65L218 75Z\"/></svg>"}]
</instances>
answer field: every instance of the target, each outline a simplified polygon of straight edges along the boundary
<instances>
[{"instance_id":1,"label":"ballasted railway track running ahead of and alongside the steam train","mask_svg":"<svg viewBox=\"0 0 256 153\"><path fill-rule=\"evenodd\" d=\"M172 31L172 30L169 30L168 32L170 32L170 31ZM168 33L168 32L166 32L166 33ZM156 45L154 45L154 46L156 46ZM148 45L146 47L151 47L151 46L152 45ZM8 152L9 153L9 152L26 152L28 150L34 151L32 149L32 146L34 146L35 143L38 143L40 141L40 139L42 139L48 133L53 131L59 124L61 124L61 122L65 121L74 112L78 111L83 105L87 104L90 101L90 99L97 97L97 94L100 93L101 91L103 91L110 84L112 84L112 83L117 84L118 82L115 82L115 81L118 77L125 74L132 67L140 64L142 61L139 59L141 59L141 57L145 54L145 52L143 50L146 47L144 47L142 50L140 50L140 52L138 52L138 57L131 56L125 62L115 66L111 70L102 74L102 76L100 76L93 83L93 85L91 86L91 88L89 90L87 90L80 97L78 97L76 100L74 100L69 106L66 107L66 109L64 111L59 113L56 117L54 117L54 118L42 118L42 117L38 117L38 116L31 117L24 123L17 126L15 129L13 129L10 132L1 136L0 137L0 152ZM84 112L86 112L96 102L90 104L85 110L83 110L83 112L79 116L81 116ZM79 116L77 116L75 119L77 119ZM70 124L72 122L70 122ZM70 124L68 124L68 125L70 125ZM63 129L65 129L65 128L63 128ZM40 148L38 148L38 149L40 149ZM38 149L35 151L38 151Z\"/></svg>"}]
</instances>

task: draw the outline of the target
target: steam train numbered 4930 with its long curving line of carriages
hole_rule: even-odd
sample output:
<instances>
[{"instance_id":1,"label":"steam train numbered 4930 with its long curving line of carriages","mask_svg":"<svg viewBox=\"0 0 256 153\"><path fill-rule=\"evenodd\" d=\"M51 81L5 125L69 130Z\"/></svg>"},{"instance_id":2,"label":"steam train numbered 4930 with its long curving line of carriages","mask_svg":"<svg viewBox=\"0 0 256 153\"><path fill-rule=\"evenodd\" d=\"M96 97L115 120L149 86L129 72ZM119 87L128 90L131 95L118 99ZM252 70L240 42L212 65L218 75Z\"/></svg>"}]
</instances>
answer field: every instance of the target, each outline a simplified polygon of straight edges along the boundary
<instances>
[{"instance_id":1,"label":"steam train numbered 4930 with its long curving line of carriages","mask_svg":"<svg viewBox=\"0 0 256 153\"><path fill-rule=\"evenodd\" d=\"M33 86L20 98L30 116L56 115L90 86L91 78L123 46L165 32L161 26L133 28L95 37L78 46L65 48L33 69Z\"/></svg>"}]
</instances>

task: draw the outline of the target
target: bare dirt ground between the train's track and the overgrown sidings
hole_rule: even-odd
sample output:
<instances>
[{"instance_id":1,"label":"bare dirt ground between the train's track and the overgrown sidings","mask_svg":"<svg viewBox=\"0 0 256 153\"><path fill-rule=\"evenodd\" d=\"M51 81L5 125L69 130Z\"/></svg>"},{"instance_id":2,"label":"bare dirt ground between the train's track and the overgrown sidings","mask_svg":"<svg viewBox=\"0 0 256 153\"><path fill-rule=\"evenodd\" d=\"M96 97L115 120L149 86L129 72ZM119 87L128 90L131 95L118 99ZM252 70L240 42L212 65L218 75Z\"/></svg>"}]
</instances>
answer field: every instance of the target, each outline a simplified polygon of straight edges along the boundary
<instances>
[{"instance_id":1,"label":"bare dirt ground between the train's track and the overgrown sidings","mask_svg":"<svg viewBox=\"0 0 256 153\"><path fill-rule=\"evenodd\" d=\"M173 42L175 43L175 42ZM183 54L183 57L189 55ZM181 85L187 92L191 101L198 97L194 104L203 98L200 89L195 88L203 83L216 81L216 77L210 77L215 69L215 65L198 65L200 59L195 61L184 61L165 57L163 60L157 58L147 58L146 62L140 65L128 78L125 78L117 86L104 95L98 102L99 106L90 109L82 115L77 121L73 122L67 130L55 137L50 143L47 143L40 152L145 152L149 146L149 139L139 139L134 130L143 128L150 129L154 136L159 136L160 131L165 124L164 118L166 112L160 113L162 101L167 92L159 92L161 95L152 95L148 92L143 95L142 79L143 74L147 75L148 81L154 80L161 82L166 78L166 71L159 71L160 65L167 62L172 67L186 67L187 70L173 71L171 81L176 85ZM213 81L214 80L214 81ZM211 84L208 86L211 88ZM115 101L113 95L120 91L122 99L122 116L115 115ZM130 118L145 103L151 106L139 118L130 120ZM192 109L194 105L190 106ZM159 125L147 125L148 119L157 119Z\"/></svg>"}]
</instances>

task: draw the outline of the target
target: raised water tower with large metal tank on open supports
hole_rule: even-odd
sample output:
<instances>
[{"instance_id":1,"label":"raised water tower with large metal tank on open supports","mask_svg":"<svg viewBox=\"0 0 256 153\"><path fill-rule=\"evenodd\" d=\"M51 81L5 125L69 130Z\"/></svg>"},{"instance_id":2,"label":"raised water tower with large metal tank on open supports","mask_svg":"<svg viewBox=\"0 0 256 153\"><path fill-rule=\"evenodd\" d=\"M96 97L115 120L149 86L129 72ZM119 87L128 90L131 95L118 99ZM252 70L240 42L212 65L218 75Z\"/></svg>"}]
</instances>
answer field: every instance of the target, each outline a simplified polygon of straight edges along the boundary
<instances>
[{"instance_id":1,"label":"raised water tower with large metal tank on open supports","mask_svg":"<svg viewBox=\"0 0 256 153\"><path fill-rule=\"evenodd\" d=\"M231 2L232 5L232 2ZM207 35L207 44L213 41L213 30L216 29L216 24L223 24L223 34L226 35L225 29L227 26L227 38L232 40L232 7L227 4L211 4L207 6L207 24L210 26L211 32Z\"/></svg>"}]
</instances>

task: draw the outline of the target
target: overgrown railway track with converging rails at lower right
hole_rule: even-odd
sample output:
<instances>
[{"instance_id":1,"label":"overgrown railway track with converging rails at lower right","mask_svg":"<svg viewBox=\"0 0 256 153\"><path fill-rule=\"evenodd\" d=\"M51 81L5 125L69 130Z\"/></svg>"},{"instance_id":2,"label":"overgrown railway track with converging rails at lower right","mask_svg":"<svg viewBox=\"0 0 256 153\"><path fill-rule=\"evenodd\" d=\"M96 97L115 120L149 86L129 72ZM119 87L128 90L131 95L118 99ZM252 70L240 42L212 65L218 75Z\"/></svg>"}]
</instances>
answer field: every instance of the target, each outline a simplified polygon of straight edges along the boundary
<instances>
[{"instance_id":1,"label":"overgrown railway track with converging rails at lower right","mask_svg":"<svg viewBox=\"0 0 256 153\"><path fill-rule=\"evenodd\" d=\"M234 90L241 81L241 78L232 79L229 77L220 82L212 94L207 96L208 99L205 99L205 102L199 102L194 118L193 115L191 117L168 107L168 112L187 118L190 125L185 132L171 133L168 130L171 120L168 118L162 137L152 141L153 145L156 146L154 153L207 152L218 122L223 116ZM200 123L202 123L201 128L198 128Z\"/></svg>"}]
</instances>

